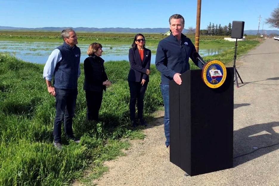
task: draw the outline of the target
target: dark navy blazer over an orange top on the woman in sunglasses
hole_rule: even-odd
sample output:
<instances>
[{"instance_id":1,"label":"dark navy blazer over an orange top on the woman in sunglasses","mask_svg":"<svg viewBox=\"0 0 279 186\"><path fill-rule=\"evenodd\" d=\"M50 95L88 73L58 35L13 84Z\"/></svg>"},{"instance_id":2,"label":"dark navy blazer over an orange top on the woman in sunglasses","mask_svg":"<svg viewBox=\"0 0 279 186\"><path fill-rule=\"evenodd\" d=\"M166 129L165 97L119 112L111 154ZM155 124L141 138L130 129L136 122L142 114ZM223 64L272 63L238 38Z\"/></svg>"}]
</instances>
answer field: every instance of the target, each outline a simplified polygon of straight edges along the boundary
<instances>
[{"instance_id":1,"label":"dark navy blazer over an orange top on the woman in sunglasses","mask_svg":"<svg viewBox=\"0 0 279 186\"><path fill-rule=\"evenodd\" d=\"M137 47L129 49L129 62L131 65L128 81L141 82L142 79L149 81L148 75L145 74L150 69L151 50L144 48L143 60L141 61L139 49Z\"/></svg>"}]
</instances>

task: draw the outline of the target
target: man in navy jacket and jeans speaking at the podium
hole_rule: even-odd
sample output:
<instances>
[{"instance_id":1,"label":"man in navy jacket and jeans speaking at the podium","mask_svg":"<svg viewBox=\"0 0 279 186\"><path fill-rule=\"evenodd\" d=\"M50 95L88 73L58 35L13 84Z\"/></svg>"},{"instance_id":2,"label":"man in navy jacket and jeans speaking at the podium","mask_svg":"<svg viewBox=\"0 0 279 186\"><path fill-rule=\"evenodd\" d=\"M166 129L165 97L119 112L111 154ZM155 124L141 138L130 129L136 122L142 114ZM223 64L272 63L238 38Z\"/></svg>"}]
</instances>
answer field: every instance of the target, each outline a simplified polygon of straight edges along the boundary
<instances>
[{"instance_id":1,"label":"man in navy jacket and jeans speaking at the podium","mask_svg":"<svg viewBox=\"0 0 279 186\"><path fill-rule=\"evenodd\" d=\"M174 80L181 85L180 75L190 69L189 57L202 68L202 64L195 58L197 55L195 46L189 38L182 34L184 18L174 14L169 18L170 35L161 40L156 52L156 68L161 72L161 92L165 107L164 129L166 147L169 152L170 145L170 117L169 117L169 81Z\"/></svg>"}]
</instances>

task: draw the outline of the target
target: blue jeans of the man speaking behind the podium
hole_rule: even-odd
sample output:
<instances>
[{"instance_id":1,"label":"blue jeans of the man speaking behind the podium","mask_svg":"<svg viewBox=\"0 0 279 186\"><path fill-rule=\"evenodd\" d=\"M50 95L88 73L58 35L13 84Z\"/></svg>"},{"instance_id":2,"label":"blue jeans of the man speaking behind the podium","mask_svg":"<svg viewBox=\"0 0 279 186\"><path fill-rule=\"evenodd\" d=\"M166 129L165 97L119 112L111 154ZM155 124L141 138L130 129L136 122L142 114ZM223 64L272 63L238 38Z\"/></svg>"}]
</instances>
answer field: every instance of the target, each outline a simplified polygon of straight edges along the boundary
<instances>
[{"instance_id":1,"label":"blue jeans of the man speaking behind the podium","mask_svg":"<svg viewBox=\"0 0 279 186\"><path fill-rule=\"evenodd\" d=\"M168 84L161 84L161 92L164 101L165 107L165 116L164 116L164 129L165 129L165 137L166 137L166 146L170 145L170 97L169 97L169 89L170 86Z\"/></svg>"}]
</instances>

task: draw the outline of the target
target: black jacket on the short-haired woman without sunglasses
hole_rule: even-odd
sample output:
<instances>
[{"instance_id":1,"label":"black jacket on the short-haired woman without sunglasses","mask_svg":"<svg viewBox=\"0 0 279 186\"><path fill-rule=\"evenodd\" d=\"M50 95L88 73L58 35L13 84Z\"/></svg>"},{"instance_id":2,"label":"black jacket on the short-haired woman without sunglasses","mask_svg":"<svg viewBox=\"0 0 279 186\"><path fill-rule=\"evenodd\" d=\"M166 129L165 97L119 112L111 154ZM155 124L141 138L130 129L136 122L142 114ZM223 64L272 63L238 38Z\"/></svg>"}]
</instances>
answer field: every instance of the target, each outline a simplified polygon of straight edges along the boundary
<instances>
[{"instance_id":1,"label":"black jacket on the short-haired woman without sunglasses","mask_svg":"<svg viewBox=\"0 0 279 186\"><path fill-rule=\"evenodd\" d=\"M106 90L106 86L103 85L103 82L107 79L104 60L102 58L93 54L84 60L84 90Z\"/></svg>"}]
</instances>

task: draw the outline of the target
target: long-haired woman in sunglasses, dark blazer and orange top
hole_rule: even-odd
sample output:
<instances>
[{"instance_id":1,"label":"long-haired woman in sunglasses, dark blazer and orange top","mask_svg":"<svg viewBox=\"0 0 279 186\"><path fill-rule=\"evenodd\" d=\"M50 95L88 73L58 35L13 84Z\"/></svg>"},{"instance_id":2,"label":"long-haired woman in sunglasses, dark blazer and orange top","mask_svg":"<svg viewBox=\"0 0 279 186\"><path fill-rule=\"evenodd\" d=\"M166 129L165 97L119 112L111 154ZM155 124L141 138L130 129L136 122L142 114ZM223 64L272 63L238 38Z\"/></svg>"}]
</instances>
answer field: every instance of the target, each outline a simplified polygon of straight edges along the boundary
<instances>
[{"instance_id":1,"label":"long-haired woman in sunglasses, dark blazer and orange top","mask_svg":"<svg viewBox=\"0 0 279 186\"><path fill-rule=\"evenodd\" d=\"M129 49L130 71L128 84L130 88L130 119L133 127L137 126L136 121L136 101L137 116L140 125L146 126L143 119L143 97L149 81L149 67L151 60L151 50L145 48L145 38L142 34L135 35L132 48Z\"/></svg>"}]
</instances>

